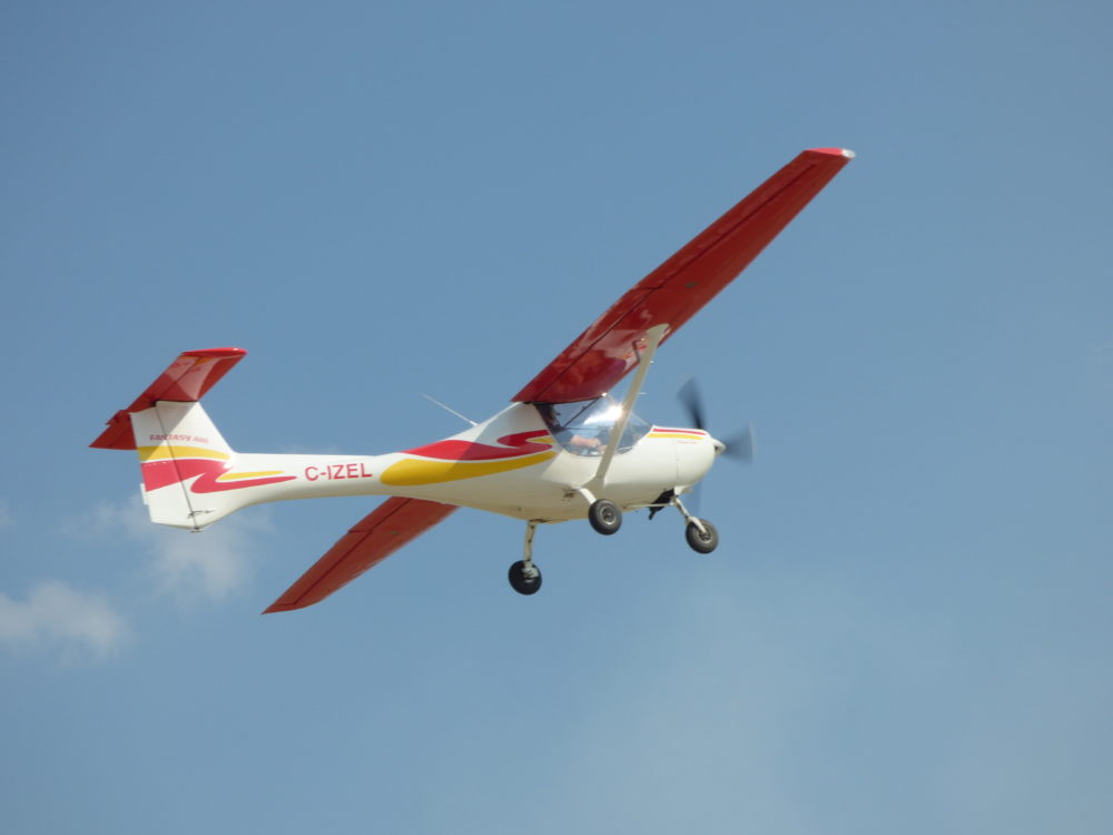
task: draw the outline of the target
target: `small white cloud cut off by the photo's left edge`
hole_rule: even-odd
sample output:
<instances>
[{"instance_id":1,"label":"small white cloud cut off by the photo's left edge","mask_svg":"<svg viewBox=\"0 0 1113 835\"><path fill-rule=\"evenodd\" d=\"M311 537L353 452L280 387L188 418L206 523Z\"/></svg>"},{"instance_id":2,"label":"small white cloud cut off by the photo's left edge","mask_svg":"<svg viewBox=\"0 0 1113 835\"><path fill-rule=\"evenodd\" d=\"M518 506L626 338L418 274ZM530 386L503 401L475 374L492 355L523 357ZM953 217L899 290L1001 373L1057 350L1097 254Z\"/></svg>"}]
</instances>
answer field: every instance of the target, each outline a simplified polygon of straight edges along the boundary
<instances>
[{"instance_id":1,"label":"small white cloud cut off by the photo's left edge","mask_svg":"<svg viewBox=\"0 0 1113 835\"><path fill-rule=\"evenodd\" d=\"M0 593L0 646L10 650L57 647L67 658L102 658L131 637L127 621L99 593L58 580L35 586L27 600Z\"/></svg>"}]
</instances>

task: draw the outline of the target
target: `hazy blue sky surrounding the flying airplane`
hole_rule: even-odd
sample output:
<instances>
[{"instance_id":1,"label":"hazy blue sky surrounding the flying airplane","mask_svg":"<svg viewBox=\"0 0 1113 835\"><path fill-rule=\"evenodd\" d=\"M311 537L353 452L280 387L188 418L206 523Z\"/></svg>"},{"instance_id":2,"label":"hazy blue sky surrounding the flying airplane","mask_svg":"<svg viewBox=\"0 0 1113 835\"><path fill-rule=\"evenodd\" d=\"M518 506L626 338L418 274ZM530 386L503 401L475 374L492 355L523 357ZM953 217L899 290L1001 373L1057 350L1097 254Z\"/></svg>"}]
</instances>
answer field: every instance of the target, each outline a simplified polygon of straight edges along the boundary
<instances>
[{"instance_id":1,"label":"hazy blue sky surrounding the flying airplane","mask_svg":"<svg viewBox=\"0 0 1113 835\"><path fill-rule=\"evenodd\" d=\"M20 833L1113 826L1097 2L0 11L0 806ZM674 514L461 511L260 617L374 500L148 525L87 449L187 348L245 451L483 418L806 147L858 158L671 340Z\"/></svg>"}]
</instances>

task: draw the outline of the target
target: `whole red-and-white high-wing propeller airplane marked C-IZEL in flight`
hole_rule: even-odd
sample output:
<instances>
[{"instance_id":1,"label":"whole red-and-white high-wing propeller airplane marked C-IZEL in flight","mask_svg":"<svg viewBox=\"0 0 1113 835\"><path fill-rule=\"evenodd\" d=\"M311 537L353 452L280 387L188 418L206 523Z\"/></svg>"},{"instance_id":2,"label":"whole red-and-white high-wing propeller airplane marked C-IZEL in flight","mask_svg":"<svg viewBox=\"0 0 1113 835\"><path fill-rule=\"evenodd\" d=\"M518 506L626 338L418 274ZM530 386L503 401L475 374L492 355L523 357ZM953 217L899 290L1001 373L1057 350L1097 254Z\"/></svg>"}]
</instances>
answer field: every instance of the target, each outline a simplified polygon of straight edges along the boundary
<instances>
[{"instance_id":1,"label":"whole red-and-white high-wing propeller airplane marked C-IZEL in flight","mask_svg":"<svg viewBox=\"0 0 1113 835\"><path fill-rule=\"evenodd\" d=\"M695 403L693 428L648 423L634 414L634 403L657 350L853 158L844 148L800 153L627 291L509 406L450 438L382 455L236 452L200 401L247 352L217 347L178 356L90 445L137 450L150 520L190 531L262 502L390 497L266 612L319 602L460 507L525 522L522 559L509 571L521 595L541 588L533 536L542 523L587 519L610 536L624 513L648 508L652 518L672 507L688 544L710 553L718 532L680 497L727 444L703 428ZM618 401L610 392L631 371Z\"/></svg>"}]
</instances>

